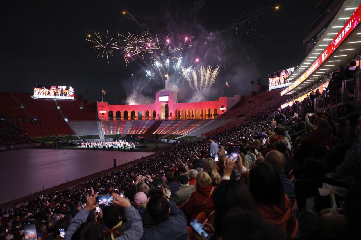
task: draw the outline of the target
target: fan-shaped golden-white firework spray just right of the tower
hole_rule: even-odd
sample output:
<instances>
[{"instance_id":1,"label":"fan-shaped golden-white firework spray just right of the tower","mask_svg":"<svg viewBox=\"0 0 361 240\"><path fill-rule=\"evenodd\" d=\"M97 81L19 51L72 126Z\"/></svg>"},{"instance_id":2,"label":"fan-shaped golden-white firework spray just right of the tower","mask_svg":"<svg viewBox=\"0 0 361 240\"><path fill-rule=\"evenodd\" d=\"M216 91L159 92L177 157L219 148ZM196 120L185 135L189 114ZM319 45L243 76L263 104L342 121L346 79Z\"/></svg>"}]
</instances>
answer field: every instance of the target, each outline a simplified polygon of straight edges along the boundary
<instances>
[{"instance_id":1,"label":"fan-shaped golden-white firework spray just right of the tower","mask_svg":"<svg viewBox=\"0 0 361 240\"><path fill-rule=\"evenodd\" d=\"M205 91L213 86L219 74L219 66L200 66L193 69L182 67L184 77L194 91Z\"/></svg>"}]
</instances>

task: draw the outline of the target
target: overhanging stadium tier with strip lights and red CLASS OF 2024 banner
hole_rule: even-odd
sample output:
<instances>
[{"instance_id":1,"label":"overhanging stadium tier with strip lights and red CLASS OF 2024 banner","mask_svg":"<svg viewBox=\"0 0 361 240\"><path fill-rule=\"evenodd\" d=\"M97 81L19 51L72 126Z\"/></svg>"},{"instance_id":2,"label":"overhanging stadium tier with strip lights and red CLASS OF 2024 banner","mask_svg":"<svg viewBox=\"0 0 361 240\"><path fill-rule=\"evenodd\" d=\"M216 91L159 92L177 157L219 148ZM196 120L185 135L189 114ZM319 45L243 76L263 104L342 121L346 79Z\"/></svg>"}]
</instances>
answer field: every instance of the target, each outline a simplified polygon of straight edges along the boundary
<instances>
[{"instance_id":1,"label":"overhanging stadium tier with strip lights and red CLASS OF 2024 banner","mask_svg":"<svg viewBox=\"0 0 361 240\"><path fill-rule=\"evenodd\" d=\"M346 0L312 51L288 77L281 91L293 95L315 84L340 64L361 52L361 0Z\"/></svg>"}]
</instances>

